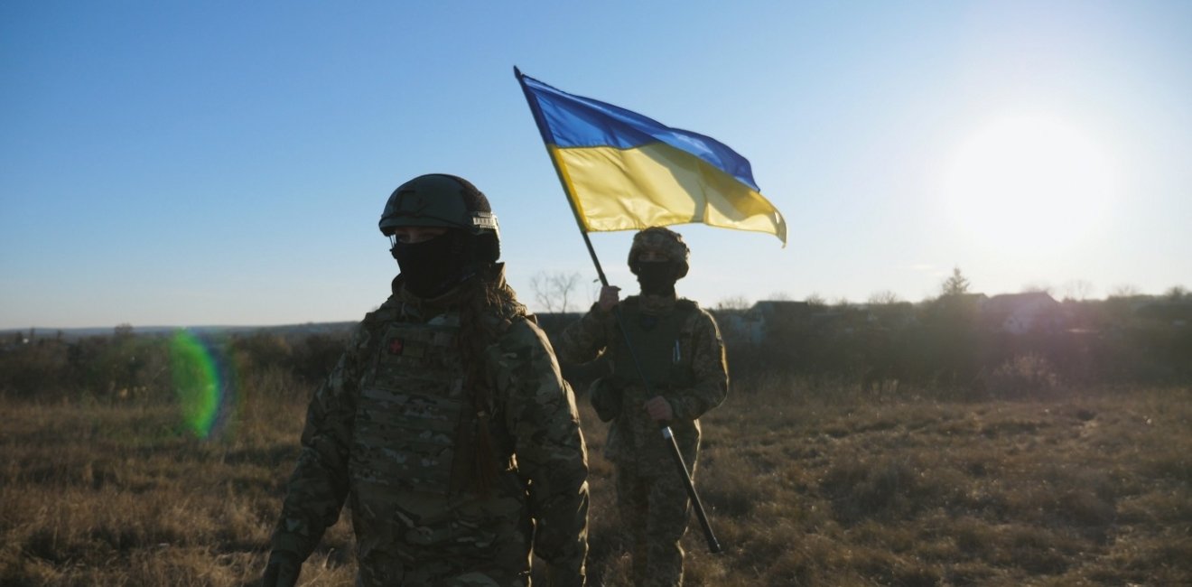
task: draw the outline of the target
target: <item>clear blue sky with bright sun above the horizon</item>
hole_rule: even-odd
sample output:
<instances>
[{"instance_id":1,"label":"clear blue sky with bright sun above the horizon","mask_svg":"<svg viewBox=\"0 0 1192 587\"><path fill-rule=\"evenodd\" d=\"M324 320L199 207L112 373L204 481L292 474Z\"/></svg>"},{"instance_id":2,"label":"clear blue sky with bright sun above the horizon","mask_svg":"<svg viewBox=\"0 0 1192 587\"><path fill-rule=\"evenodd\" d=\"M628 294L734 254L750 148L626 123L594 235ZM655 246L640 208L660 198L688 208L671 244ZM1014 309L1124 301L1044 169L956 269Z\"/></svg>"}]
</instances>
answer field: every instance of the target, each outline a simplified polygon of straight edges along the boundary
<instances>
[{"instance_id":1,"label":"clear blue sky with bright sun above the horizon","mask_svg":"<svg viewBox=\"0 0 1192 587\"><path fill-rule=\"evenodd\" d=\"M588 284L515 64L750 159L789 245L675 227L704 305L1192 286L1190 31L1184 0L2 2L0 328L356 320L429 172L488 193L532 307ZM592 242L635 290L631 236Z\"/></svg>"}]
</instances>

